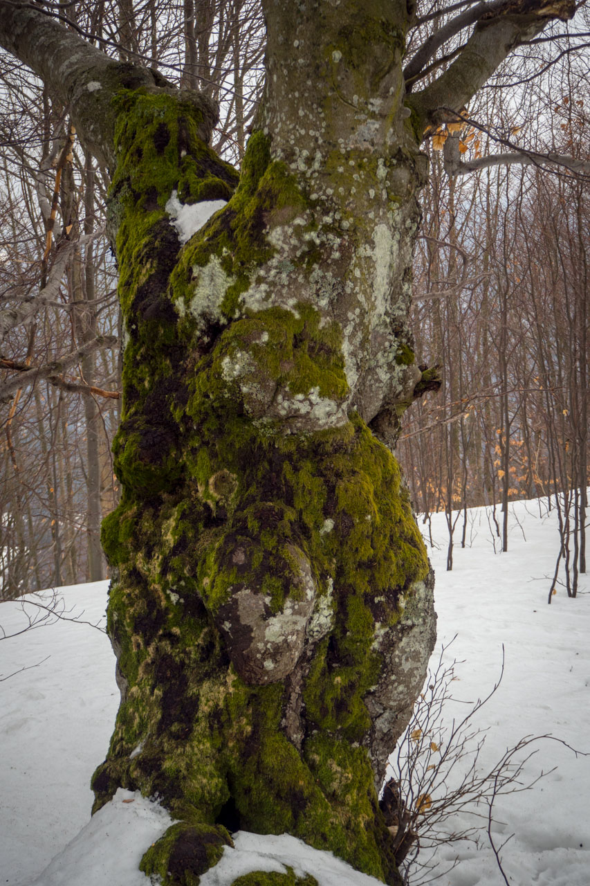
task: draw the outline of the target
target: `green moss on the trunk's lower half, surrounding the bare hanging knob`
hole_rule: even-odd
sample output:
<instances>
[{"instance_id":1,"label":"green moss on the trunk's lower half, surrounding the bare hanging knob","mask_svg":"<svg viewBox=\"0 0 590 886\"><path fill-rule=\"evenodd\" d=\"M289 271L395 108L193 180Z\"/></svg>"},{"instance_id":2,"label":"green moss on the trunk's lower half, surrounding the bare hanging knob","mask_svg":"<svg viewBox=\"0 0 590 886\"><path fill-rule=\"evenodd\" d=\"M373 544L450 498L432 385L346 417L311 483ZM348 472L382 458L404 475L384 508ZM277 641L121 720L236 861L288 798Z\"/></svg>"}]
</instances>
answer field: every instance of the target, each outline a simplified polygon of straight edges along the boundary
<instances>
[{"instance_id":1,"label":"green moss on the trunk's lower half, surrounding the bare hanging knob","mask_svg":"<svg viewBox=\"0 0 590 886\"><path fill-rule=\"evenodd\" d=\"M242 417L247 448L244 436L213 430L214 408L208 418L211 430L206 423L200 430L206 445L189 463L201 489L235 500L233 517L207 529L208 504L179 493L141 517L125 502L125 528L105 526L122 566L109 631L129 690L95 779L97 795L120 783L148 796L159 792L173 814L186 818L188 804L211 826L232 797L239 827L298 835L395 882L369 758L352 745L369 730L363 697L380 672L371 650L374 596L384 600L379 620L384 608L393 618L402 588L427 569L396 462L357 417L307 441L257 436ZM133 551L123 541L132 527ZM247 550L245 574L229 569L224 556L236 540ZM301 753L281 728L283 684L246 686L228 671L206 615L228 599L230 587L257 581L272 611L280 611L292 594L295 563L286 546L293 542L314 563L318 587L332 580L334 597L330 641L317 644L303 685L310 737ZM167 588L182 605L170 601ZM146 734L152 737L130 758Z\"/></svg>"}]
</instances>

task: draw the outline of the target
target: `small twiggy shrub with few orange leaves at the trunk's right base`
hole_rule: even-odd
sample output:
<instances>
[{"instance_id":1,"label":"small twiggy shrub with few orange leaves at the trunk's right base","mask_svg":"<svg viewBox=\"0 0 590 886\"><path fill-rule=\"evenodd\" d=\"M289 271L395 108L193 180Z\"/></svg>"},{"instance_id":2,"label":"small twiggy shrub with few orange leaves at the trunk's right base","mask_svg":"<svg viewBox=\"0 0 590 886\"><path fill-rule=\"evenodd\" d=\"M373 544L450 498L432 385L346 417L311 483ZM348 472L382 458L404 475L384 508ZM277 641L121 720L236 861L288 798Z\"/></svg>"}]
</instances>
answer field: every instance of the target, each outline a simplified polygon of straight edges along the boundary
<instances>
[{"instance_id":1,"label":"small twiggy shrub with few orange leaves at the trunk's right base","mask_svg":"<svg viewBox=\"0 0 590 886\"><path fill-rule=\"evenodd\" d=\"M494 801L497 797L530 790L549 774L541 770L537 776L527 777L524 767L538 750L532 750L533 746L548 740L562 744L577 757L588 756L554 735L525 735L493 766L483 768L481 752L487 730L477 727L475 720L477 712L500 688L504 675L504 649L502 647L501 672L493 688L475 703L463 702L467 705L465 715L449 722L446 721L447 706L459 702L451 693L457 679L455 668L457 664L464 664L456 659L451 664L445 663L446 650L455 638L456 635L450 643L443 645L437 666L428 674L406 734L390 758L391 777L380 800L393 837L396 861L403 863L406 876L410 867L426 871L437 867L437 862L424 863L418 852L411 856L409 851L413 846L417 845L423 851L441 843L477 843L482 830L490 836L500 864L502 846L494 847L491 837ZM479 811L481 804L487 806L487 814ZM448 822L453 821L457 812L467 813L474 823L449 831Z\"/></svg>"}]
</instances>

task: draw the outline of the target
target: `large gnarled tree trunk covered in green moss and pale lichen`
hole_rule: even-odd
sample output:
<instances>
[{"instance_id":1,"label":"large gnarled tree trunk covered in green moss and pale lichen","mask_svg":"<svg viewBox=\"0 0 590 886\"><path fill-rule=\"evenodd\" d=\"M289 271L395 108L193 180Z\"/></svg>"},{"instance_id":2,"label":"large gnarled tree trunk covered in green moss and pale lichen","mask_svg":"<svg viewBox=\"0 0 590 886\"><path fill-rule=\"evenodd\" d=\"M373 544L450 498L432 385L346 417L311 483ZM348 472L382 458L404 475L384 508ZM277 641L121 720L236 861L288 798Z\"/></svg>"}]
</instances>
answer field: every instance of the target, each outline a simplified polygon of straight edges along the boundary
<instances>
[{"instance_id":1,"label":"large gnarled tree trunk covered in green moss and pale lichen","mask_svg":"<svg viewBox=\"0 0 590 886\"><path fill-rule=\"evenodd\" d=\"M436 384L408 330L419 145L532 25L488 23L490 58L476 31L443 101L439 82L408 97L406 0L264 5L267 84L238 176L208 147L204 97L0 3L4 45L113 170L127 340L103 542L121 703L95 809L120 786L162 799L179 823L142 868L166 883L198 882L237 827L397 883L377 791L435 638L388 447ZM173 191L227 205L182 245Z\"/></svg>"}]
</instances>

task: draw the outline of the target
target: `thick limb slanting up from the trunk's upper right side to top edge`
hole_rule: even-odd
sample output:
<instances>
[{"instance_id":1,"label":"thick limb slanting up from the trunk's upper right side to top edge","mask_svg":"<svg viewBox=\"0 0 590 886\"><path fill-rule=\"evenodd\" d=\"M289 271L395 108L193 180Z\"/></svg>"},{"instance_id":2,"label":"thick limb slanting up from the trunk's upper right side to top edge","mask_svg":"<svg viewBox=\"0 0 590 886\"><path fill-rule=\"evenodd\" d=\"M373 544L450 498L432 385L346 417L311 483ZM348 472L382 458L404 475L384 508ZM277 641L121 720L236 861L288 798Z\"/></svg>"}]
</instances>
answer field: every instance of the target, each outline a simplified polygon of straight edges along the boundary
<instances>
[{"instance_id":1,"label":"thick limb slanting up from the trunk's upper right side to top edge","mask_svg":"<svg viewBox=\"0 0 590 886\"><path fill-rule=\"evenodd\" d=\"M438 126L470 102L516 46L542 31L552 19L571 19L574 0L506 0L491 4L454 63L408 104L423 118L424 128ZM461 17L459 17L461 18Z\"/></svg>"}]
</instances>

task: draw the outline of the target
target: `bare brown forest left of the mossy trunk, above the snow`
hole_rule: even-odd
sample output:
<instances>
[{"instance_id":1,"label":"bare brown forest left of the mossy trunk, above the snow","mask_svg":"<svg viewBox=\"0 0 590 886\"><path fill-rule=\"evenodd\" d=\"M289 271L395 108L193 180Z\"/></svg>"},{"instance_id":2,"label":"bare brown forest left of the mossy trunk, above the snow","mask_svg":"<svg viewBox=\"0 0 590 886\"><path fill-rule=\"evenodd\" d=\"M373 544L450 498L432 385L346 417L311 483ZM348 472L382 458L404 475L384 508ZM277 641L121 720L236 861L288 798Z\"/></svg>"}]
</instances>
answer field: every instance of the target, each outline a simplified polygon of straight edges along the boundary
<instances>
[{"instance_id":1,"label":"bare brown forest left of the mossy trunk, above the snow","mask_svg":"<svg viewBox=\"0 0 590 886\"><path fill-rule=\"evenodd\" d=\"M62 20L100 49L218 102L213 145L239 163L260 92L259 4L62 5ZM120 318L107 170L32 74L6 55L0 65L0 597L10 599L106 576L100 522L119 498Z\"/></svg>"}]
</instances>

